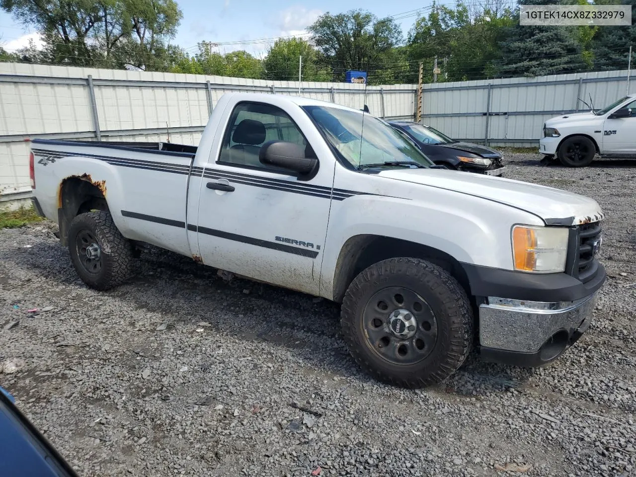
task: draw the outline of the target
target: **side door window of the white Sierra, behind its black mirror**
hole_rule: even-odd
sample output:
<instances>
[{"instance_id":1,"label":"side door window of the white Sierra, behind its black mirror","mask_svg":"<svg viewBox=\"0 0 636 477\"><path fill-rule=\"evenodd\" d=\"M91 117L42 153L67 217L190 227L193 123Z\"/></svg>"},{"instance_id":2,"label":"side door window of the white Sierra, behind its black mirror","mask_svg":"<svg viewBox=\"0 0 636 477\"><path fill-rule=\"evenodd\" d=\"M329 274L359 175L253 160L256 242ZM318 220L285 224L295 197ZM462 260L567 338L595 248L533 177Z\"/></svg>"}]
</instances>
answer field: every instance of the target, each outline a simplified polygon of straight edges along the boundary
<instances>
[{"instance_id":1,"label":"side door window of the white Sierra, behind its black mirror","mask_svg":"<svg viewBox=\"0 0 636 477\"><path fill-rule=\"evenodd\" d=\"M241 102L230 116L219 163L273 169L258 159L261 146L268 141L289 141L308 149L307 139L282 109L269 104Z\"/></svg>"}]
</instances>

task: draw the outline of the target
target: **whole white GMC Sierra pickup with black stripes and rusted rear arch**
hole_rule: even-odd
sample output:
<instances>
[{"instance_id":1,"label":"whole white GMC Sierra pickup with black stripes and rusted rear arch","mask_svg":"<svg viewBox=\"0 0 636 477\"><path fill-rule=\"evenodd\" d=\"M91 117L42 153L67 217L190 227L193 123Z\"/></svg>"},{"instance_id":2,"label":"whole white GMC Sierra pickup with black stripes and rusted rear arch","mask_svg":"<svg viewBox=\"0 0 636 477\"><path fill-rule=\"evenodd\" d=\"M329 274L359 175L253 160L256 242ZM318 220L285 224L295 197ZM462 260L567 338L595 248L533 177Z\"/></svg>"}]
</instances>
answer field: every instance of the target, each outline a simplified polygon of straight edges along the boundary
<instances>
[{"instance_id":1,"label":"whole white GMC Sierra pickup with black stripes and rusted rear arch","mask_svg":"<svg viewBox=\"0 0 636 477\"><path fill-rule=\"evenodd\" d=\"M79 277L107 289L144 244L342 303L376 378L424 387L474 342L538 366L590 324L598 204L436 168L384 121L299 97L227 94L201 142L31 142L36 209Z\"/></svg>"}]
</instances>

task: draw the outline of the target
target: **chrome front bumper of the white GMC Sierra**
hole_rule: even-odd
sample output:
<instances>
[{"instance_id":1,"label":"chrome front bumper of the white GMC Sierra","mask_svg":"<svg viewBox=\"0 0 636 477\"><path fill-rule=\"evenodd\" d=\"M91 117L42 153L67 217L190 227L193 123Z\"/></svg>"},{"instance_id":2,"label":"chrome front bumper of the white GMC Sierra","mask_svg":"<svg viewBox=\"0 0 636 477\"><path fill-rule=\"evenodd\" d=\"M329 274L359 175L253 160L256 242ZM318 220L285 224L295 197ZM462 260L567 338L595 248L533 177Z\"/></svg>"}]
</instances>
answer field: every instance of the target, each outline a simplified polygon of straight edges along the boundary
<instances>
[{"instance_id":1,"label":"chrome front bumper of the white GMC Sierra","mask_svg":"<svg viewBox=\"0 0 636 477\"><path fill-rule=\"evenodd\" d=\"M537 355L549 362L590 326L597 293L576 301L508 300L489 296L480 305L480 345L517 354ZM553 343L558 341L556 348ZM546 352L546 348L552 347ZM554 352L555 356L550 356Z\"/></svg>"}]
</instances>

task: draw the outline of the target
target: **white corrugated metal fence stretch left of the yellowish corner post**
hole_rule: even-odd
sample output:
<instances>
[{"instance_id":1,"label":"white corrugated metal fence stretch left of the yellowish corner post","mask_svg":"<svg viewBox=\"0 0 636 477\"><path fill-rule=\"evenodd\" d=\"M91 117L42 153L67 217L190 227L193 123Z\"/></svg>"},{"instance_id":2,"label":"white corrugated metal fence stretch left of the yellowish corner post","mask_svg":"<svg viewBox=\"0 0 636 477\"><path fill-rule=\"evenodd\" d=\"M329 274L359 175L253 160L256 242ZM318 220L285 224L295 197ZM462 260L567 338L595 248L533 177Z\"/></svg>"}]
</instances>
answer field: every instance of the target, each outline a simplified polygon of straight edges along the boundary
<instances>
[{"instance_id":1,"label":"white corrugated metal fence stretch left of the yellowish corner post","mask_svg":"<svg viewBox=\"0 0 636 477\"><path fill-rule=\"evenodd\" d=\"M412 119L416 89L303 82L300 95ZM0 200L31 194L27 138L198 144L228 91L299 95L297 81L0 63Z\"/></svg>"}]
</instances>

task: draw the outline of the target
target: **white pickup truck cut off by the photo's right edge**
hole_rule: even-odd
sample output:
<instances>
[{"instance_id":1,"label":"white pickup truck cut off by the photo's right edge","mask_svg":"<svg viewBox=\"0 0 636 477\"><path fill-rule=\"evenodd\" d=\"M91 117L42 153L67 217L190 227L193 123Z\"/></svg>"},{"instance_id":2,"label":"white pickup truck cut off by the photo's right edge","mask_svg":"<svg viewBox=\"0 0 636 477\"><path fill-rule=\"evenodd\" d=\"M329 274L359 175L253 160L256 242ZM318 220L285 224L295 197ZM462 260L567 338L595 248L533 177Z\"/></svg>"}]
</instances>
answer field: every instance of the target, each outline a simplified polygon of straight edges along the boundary
<instances>
[{"instance_id":1,"label":"white pickup truck cut off by the photo's right edge","mask_svg":"<svg viewBox=\"0 0 636 477\"><path fill-rule=\"evenodd\" d=\"M546 121L539 152L558 156L567 167L589 165L601 157L636 158L636 95L603 109L565 114Z\"/></svg>"}]
</instances>

